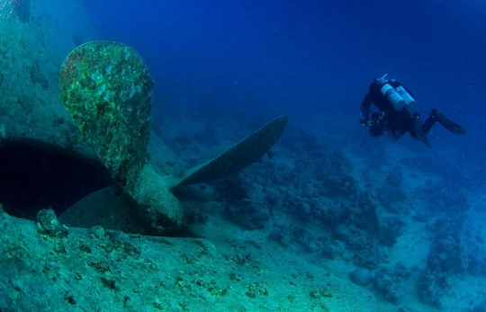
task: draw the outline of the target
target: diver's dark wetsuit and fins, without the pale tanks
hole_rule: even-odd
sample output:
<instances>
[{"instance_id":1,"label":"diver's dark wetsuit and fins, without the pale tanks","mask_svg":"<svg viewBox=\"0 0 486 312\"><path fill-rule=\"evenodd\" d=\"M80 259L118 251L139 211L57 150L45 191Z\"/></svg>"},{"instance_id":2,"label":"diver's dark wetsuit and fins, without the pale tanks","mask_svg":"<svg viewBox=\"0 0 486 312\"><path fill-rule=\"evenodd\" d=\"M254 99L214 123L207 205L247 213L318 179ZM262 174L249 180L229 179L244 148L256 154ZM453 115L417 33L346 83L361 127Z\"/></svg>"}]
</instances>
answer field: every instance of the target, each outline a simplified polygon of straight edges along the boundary
<instances>
[{"instance_id":1,"label":"diver's dark wetsuit and fins, without the pale tanks","mask_svg":"<svg viewBox=\"0 0 486 312\"><path fill-rule=\"evenodd\" d=\"M415 96L405 85L402 85L401 82L396 80L388 80L386 81L386 84L391 85L393 88L402 86L415 100ZM437 110L432 110L428 120L426 120L423 124L421 123L419 112L410 114L407 107L404 107L401 109L401 111L396 111L393 108L392 103L390 103L382 94L382 86L383 83L379 82L378 79L375 79L370 85L369 92L366 94L363 103L361 103L361 111L363 116L365 116L365 124L367 124L370 120L369 114L372 103L374 103L374 105L380 110L380 112L373 113L371 118L373 121L373 125L370 126L370 133L372 136L379 137L383 135L383 130L386 129L392 134L393 138L399 139L405 132L410 132L412 138L418 139L430 147L427 134L428 131L434 126L436 121L439 121L446 127L446 129L449 129L456 134L465 133L465 129L463 127L451 120L446 119L446 116L439 113Z\"/></svg>"}]
</instances>

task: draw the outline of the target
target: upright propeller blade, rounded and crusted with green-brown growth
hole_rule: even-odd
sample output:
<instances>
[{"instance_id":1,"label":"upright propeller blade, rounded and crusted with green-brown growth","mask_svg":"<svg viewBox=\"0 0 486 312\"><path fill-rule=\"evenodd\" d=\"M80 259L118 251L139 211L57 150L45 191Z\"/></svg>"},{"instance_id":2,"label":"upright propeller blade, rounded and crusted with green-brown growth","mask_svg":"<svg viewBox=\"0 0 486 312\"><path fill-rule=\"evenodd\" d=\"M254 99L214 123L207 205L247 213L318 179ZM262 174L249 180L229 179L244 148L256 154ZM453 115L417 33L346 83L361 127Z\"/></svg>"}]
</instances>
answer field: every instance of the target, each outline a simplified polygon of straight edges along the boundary
<instances>
[{"instance_id":1,"label":"upright propeller blade, rounded and crusted with green-brown growth","mask_svg":"<svg viewBox=\"0 0 486 312\"><path fill-rule=\"evenodd\" d=\"M76 48L60 70L67 111L114 180L129 191L145 163L153 83L137 51L110 41Z\"/></svg>"}]
</instances>

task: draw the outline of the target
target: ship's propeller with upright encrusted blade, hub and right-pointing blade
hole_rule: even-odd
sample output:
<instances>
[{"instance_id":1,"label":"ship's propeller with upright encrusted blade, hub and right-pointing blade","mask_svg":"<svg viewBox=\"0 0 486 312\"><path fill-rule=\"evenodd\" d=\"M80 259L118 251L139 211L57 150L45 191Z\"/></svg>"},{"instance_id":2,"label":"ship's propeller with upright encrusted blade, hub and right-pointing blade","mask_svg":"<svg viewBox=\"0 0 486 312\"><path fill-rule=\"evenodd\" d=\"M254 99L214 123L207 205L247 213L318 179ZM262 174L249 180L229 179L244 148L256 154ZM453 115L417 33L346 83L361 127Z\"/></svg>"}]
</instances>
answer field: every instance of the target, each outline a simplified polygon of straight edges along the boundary
<instances>
[{"instance_id":1,"label":"ship's propeller with upright encrusted blade, hub and right-pointing blade","mask_svg":"<svg viewBox=\"0 0 486 312\"><path fill-rule=\"evenodd\" d=\"M139 207L133 216L149 235L163 235L183 223L172 190L206 183L255 163L274 146L287 124L280 116L227 152L182 176L160 175L147 160L154 81L139 53L119 42L92 41L74 49L59 75L60 96L77 128Z\"/></svg>"}]
</instances>

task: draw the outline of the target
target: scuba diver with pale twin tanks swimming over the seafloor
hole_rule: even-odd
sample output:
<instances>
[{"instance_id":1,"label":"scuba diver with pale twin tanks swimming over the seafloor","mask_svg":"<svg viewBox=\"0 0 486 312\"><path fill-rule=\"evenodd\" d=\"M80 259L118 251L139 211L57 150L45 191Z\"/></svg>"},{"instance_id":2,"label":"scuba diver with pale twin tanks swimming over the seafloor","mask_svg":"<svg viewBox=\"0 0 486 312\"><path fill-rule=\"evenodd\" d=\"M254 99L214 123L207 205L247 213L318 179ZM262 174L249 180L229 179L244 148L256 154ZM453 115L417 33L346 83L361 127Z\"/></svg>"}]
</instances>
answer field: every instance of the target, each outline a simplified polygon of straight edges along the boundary
<instances>
[{"instance_id":1,"label":"scuba diver with pale twin tanks swimming over the seafloor","mask_svg":"<svg viewBox=\"0 0 486 312\"><path fill-rule=\"evenodd\" d=\"M387 130L392 138L399 139L408 131L412 138L420 140L430 147L427 134L436 122L455 134L466 133L466 129L454 121L448 120L443 113L436 109L433 109L428 119L422 123L419 112L410 114L410 111L417 106L415 96L411 91L400 82L394 79L388 80L385 77L386 75L374 79L368 94L361 103L361 112L365 119L359 120L359 122L370 127L373 137L380 137L383 135L383 131ZM380 111L374 112L370 118L372 103Z\"/></svg>"}]
</instances>

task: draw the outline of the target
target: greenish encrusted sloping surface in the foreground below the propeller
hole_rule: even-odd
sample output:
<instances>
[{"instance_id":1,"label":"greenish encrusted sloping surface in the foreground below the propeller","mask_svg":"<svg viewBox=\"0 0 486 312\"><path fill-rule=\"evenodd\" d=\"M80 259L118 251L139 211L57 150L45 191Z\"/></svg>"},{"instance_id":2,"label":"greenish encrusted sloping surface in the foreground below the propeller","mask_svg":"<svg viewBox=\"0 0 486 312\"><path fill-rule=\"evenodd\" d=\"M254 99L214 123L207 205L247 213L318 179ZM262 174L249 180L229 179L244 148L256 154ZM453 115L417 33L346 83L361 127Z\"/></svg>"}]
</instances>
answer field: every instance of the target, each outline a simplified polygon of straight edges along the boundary
<instances>
[{"instance_id":1,"label":"greenish encrusted sloping surface in the foreground below the propeller","mask_svg":"<svg viewBox=\"0 0 486 312\"><path fill-rule=\"evenodd\" d=\"M126 235L72 227L55 236L0 212L0 307L10 311L375 311L346 276L254 241Z\"/></svg>"}]
</instances>

